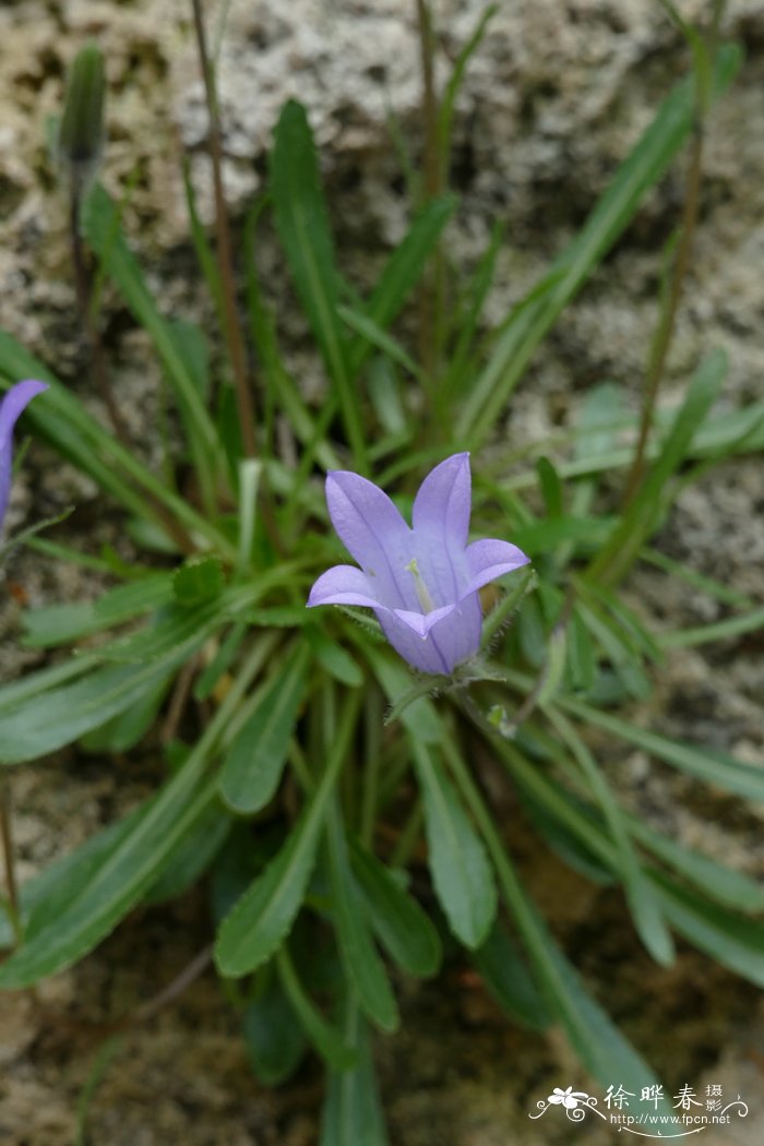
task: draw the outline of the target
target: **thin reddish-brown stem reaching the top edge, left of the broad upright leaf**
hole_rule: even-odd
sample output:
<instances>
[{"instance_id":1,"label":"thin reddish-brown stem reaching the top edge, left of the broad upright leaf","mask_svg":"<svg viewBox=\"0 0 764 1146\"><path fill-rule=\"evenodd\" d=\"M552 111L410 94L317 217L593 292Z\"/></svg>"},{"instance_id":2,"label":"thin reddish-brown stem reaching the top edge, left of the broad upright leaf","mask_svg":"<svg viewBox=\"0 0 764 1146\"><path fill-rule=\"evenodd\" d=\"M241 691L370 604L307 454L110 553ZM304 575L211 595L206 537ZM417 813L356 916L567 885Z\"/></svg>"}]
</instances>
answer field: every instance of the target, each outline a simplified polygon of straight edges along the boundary
<instances>
[{"instance_id":1,"label":"thin reddish-brown stem reaching the top edge, left of the broad upright leaf","mask_svg":"<svg viewBox=\"0 0 764 1146\"><path fill-rule=\"evenodd\" d=\"M226 342L230 354L234 380L236 384L236 401L242 427L242 441L247 457L257 455L254 440L254 406L250 392L246 372L246 351L244 336L236 309L236 291L234 288L234 260L231 253L228 211L222 176L222 143L220 133L220 110L215 92L213 65L207 53L206 33L200 0L191 0L194 7L194 28L199 52L199 63L204 78L204 91L210 116L210 158L212 160L212 180L215 196L215 234L218 238L218 261L222 283L222 303L226 322Z\"/></svg>"}]
</instances>

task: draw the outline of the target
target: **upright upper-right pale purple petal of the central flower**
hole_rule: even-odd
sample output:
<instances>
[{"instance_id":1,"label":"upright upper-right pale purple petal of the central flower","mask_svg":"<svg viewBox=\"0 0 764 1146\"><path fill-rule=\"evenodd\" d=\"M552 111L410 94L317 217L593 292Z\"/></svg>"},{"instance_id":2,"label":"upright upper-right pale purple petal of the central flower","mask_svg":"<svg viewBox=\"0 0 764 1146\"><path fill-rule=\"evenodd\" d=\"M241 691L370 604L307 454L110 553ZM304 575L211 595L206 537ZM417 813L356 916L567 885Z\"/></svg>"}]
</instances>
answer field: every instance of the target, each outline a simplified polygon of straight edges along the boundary
<instances>
[{"instance_id":1,"label":"upright upper-right pale purple petal of the central flower","mask_svg":"<svg viewBox=\"0 0 764 1146\"><path fill-rule=\"evenodd\" d=\"M468 581L471 487L470 455L454 454L427 474L413 502L417 564L435 605L456 601Z\"/></svg>"}]
</instances>

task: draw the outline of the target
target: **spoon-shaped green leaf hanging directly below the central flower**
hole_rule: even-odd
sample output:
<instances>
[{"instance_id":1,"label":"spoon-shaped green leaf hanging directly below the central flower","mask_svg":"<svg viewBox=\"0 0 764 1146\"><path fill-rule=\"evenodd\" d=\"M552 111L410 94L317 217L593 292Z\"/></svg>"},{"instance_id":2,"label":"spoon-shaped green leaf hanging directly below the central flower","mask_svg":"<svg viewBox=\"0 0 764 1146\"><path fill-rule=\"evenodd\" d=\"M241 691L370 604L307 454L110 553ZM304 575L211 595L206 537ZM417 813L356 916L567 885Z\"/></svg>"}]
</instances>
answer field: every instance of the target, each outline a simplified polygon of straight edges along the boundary
<instances>
[{"instance_id":1,"label":"spoon-shaped green leaf hanging directly below the central flower","mask_svg":"<svg viewBox=\"0 0 764 1146\"><path fill-rule=\"evenodd\" d=\"M480 947L496 917L496 885L486 849L430 748L415 738L411 747L438 898L456 937L465 947Z\"/></svg>"}]
</instances>

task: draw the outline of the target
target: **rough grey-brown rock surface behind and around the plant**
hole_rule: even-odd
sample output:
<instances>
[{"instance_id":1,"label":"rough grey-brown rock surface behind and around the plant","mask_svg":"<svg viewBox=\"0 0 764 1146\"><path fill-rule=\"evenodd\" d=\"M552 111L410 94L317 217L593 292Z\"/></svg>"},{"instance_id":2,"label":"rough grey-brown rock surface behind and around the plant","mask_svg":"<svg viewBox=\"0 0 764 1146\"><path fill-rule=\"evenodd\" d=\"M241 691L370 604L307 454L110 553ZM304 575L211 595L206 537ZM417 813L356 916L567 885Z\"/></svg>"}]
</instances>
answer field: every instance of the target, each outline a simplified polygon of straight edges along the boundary
<instances>
[{"instance_id":1,"label":"rough grey-brown rock surface behind and around the plant","mask_svg":"<svg viewBox=\"0 0 764 1146\"><path fill-rule=\"evenodd\" d=\"M707 10L680 0L686 16ZM435 0L439 83L483 8L476 0ZM219 7L207 6L214 28ZM747 61L709 125L702 218L687 296L669 362L664 399L676 401L711 346L731 360L725 401L761 398L764 368L764 5L728 5L725 33L741 39ZM74 322L65 219L46 156L45 118L58 107L66 64L96 37L108 60L109 146L104 179L117 193L133 182L127 228L171 314L205 317L187 238L180 156L190 156L205 218L210 172L205 115L191 36L181 0L89 2L17 0L0 9L0 325L48 361L82 398L88 393ZM507 221L488 317L498 322L575 233L617 162L625 156L687 52L653 0L518 0L499 5L473 57L457 103L452 185L462 206L448 238L457 268L468 272L497 218ZM339 258L363 286L409 217L388 120L416 160L420 148L420 80L412 0L233 0L220 55L226 128L226 182L241 215L263 185L270 131L289 96L301 100L321 147ZM518 441L538 440L565 423L585 390L605 378L636 401L655 321L660 251L682 205L683 164L645 203L638 219L568 309L514 395L506 426ZM320 364L284 280L283 259L263 234L258 250L278 309L290 361L306 391L320 392ZM136 448L157 456L151 434L160 384L141 331L117 299L108 300L115 383ZM762 463L747 458L686 490L662 545L758 599L764 595ZM36 445L14 493L11 524L74 501L72 543L129 543L110 523L95 490ZM8 580L32 602L74 601L92 576L15 557ZM712 620L718 607L700 594L667 590L656 573L631 582L632 602L659 622ZM0 594L2 589L0 588ZM0 601L0 673L36 661L14 641L17 606ZM3 628L0 627L0 634ZM638 714L678 736L763 762L761 637L668 658L655 698ZM762 872L761 818L638 753L601 746L633 807L670 825L687 842ZM69 850L131 806L153 782L150 761L107 770L97 759L64 754L13 778L21 874ZM512 809L507 808L507 816ZM554 918L592 988L672 1084L700 1092L724 1083L751 1107L745 1122L709 1146L764 1138L764 1025L753 988L682 949L662 971L623 927L617 896L592 889L531 841L534 893ZM168 982L206 942L202 900L170 915L139 912L80 967L36 995L0 999L0 1129L13 1146L73 1140L77 1096L107 1026ZM380 1042L385 1101L395 1146L536 1146L575 1143L583 1129L564 1120L531 1123L535 1101L553 1085L585 1080L556 1033L521 1035L497 1014L458 966L425 987L402 983L403 1034ZM615 1082L615 1080L614 1080ZM92 1113L93 1143L110 1146L300 1146L315 1140L320 1077L308 1067L273 1094L253 1082L235 1020L211 975L173 1008L123 1041ZM613 1136L586 1127L598 1146ZM3 1139L5 1140L5 1139ZM362 1144L360 1144L362 1146Z\"/></svg>"}]
</instances>

